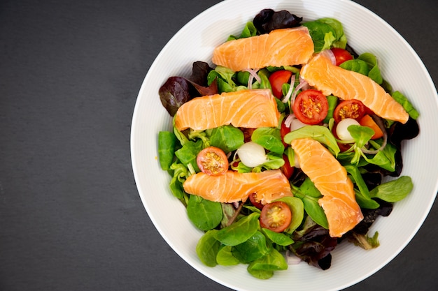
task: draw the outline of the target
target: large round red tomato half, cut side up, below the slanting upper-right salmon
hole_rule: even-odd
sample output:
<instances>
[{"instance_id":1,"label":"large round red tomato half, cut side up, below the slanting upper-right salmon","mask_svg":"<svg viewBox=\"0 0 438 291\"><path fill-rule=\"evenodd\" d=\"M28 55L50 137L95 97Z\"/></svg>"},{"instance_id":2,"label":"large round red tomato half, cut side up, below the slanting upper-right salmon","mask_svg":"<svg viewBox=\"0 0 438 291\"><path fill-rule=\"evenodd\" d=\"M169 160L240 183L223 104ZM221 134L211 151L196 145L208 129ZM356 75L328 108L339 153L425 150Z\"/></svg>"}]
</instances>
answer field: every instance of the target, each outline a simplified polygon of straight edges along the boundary
<instances>
[{"instance_id":1,"label":"large round red tomato half, cut side up, below the slanting upper-right salmon","mask_svg":"<svg viewBox=\"0 0 438 291\"><path fill-rule=\"evenodd\" d=\"M315 89L304 90L295 98L292 110L303 124L319 124L327 116L327 97Z\"/></svg>"}]
</instances>

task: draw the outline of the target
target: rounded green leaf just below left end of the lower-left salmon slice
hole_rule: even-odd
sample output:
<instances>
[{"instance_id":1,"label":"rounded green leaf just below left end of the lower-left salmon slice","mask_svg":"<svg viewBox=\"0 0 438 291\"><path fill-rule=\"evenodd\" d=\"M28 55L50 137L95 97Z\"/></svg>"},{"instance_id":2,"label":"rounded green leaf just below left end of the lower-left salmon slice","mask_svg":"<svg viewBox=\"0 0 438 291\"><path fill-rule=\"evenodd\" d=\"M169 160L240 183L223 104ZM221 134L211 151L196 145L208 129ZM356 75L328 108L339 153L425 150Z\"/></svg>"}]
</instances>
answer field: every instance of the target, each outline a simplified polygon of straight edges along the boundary
<instances>
[{"instance_id":1,"label":"rounded green leaf just below left end of the lower-left salmon slice","mask_svg":"<svg viewBox=\"0 0 438 291\"><path fill-rule=\"evenodd\" d=\"M188 218L199 230L211 230L222 221L222 206L220 202L190 195L187 205Z\"/></svg>"}]
</instances>

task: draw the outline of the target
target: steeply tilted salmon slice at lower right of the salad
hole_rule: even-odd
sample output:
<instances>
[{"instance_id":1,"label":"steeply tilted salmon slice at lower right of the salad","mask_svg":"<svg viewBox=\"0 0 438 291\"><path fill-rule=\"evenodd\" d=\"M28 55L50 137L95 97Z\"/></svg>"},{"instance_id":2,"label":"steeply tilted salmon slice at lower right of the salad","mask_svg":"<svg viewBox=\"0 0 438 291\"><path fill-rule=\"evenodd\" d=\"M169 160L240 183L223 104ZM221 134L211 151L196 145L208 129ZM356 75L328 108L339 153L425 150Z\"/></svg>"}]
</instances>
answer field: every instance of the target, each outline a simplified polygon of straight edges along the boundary
<instances>
[{"instance_id":1,"label":"steeply tilted salmon slice at lower right of the salad","mask_svg":"<svg viewBox=\"0 0 438 291\"><path fill-rule=\"evenodd\" d=\"M318 203L327 216L330 237L341 237L363 219L353 182L345 168L318 141L297 139L292 140L291 146L302 171L323 195Z\"/></svg>"}]
</instances>

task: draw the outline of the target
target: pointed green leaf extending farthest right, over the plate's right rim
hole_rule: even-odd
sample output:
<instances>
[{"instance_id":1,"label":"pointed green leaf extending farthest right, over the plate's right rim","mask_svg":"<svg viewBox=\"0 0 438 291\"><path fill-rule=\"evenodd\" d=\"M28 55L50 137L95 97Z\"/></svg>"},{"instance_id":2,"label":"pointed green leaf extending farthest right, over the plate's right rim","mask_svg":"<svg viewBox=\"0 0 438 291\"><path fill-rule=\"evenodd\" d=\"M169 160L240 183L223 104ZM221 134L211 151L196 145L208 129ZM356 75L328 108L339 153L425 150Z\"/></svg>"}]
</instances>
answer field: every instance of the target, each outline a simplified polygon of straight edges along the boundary
<instances>
[{"instance_id":1,"label":"pointed green leaf extending farthest right, over the plate's right rim","mask_svg":"<svg viewBox=\"0 0 438 291\"><path fill-rule=\"evenodd\" d=\"M397 202L403 200L404 197L411 193L412 188L414 188L414 184L412 184L411 177L402 176L376 186L372 191L369 191L369 195L386 202Z\"/></svg>"}]
</instances>

